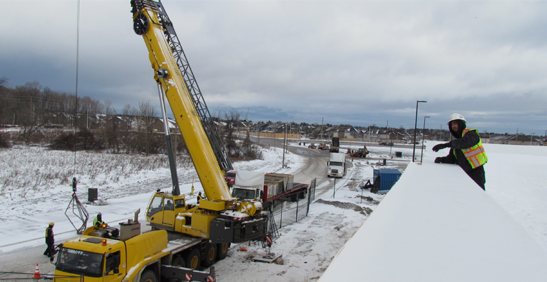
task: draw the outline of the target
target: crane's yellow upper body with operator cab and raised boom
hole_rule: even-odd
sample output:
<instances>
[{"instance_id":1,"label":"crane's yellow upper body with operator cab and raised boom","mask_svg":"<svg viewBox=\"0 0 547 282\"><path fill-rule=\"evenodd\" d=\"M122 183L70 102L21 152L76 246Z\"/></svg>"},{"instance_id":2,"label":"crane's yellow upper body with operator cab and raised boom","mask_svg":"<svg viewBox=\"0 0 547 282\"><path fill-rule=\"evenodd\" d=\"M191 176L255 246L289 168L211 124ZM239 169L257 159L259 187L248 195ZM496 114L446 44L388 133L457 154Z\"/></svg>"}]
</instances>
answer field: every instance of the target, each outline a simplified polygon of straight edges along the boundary
<instances>
[{"instance_id":1,"label":"crane's yellow upper body with operator cab and raised boom","mask_svg":"<svg viewBox=\"0 0 547 282\"><path fill-rule=\"evenodd\" d=\"M238 201L230 195L223 176L231 165L222 150L212 148L216 134L206 133L203 112L208 113L207 107L201 93L195 91L199 88L164 6L153 0L132 0L131 6L133 30L144 39L160 95L163 99L165 93L168 99L208 197L198 206L186 204L175 173L172 193L155 193L146 220L154 228L208 238L211 246L221 244L220 252L230 243L263 238L267 220L260 202Z\"/></svg>"}]
</instances>

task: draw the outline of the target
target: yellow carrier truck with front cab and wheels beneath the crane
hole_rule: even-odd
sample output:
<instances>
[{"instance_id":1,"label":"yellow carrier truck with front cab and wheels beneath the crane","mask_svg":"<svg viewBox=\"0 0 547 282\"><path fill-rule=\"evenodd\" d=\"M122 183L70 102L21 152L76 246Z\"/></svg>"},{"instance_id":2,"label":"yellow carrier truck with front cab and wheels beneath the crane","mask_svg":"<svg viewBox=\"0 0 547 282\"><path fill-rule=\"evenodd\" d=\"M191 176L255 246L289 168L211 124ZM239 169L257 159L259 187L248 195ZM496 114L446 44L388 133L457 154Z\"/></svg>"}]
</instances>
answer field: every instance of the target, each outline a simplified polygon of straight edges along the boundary
<instances>
[{"instance_id":1,"label":"yellow carrier truck with front cab and wheels beneath the crane","mask_svg":"<svg viewBox=\"0 0 547 282\"><path fill-rule=\"evenodd\" d=\"M55 274L82 276L85 282L216 281L214 267L209 272L195 270L200 261L210 266L226 257L227 248L207 252L208 244L208 239L165 230L141 233L137 211L135 219L120 223L119 229L91 226L60 244Z\"/></svg>"}]
</instances>

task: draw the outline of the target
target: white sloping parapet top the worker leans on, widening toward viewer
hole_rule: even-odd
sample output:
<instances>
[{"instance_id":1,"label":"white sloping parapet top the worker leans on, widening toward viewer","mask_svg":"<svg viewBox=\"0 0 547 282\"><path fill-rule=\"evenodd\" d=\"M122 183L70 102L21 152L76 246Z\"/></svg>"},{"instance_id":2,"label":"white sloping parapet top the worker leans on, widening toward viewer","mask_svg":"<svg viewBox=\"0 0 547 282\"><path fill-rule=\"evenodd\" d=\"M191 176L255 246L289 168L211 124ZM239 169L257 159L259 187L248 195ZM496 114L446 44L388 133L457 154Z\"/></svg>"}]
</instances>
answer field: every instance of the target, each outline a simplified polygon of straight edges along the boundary
<instances>
[{"instance_id":1,"label":"white sloping parapet top the worker leans on, widening toward viewer","mask_svg":"<svg viewBox=\"0 0 547 282\"><path fill-rule=\"evenodd\" d=\"M407 167L320 281L546 279L547 251L509 213L458 165L427 161Z\"/></svg>"}]
</instances>

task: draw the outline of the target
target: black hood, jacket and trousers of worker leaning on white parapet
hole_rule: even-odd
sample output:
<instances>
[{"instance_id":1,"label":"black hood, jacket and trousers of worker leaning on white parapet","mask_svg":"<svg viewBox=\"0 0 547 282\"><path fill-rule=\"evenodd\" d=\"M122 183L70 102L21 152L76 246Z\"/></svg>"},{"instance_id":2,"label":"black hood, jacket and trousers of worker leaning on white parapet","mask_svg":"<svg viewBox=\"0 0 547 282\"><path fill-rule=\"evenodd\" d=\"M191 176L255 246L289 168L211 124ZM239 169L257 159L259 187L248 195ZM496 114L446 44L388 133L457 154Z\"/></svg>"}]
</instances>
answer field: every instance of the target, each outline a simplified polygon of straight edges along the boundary
<instances>
[{"instance_id":1,"label":"black hood, jacket and trousers of worker leaning on white parapet","mask_svg":"<svg viewBox=\"0 0 547 282\"><path fill-rule=\"evenodd\" d=\"M480 137L475 130L470 130L462 137L462 133L465 128L465 123L463 121L458 120L458 128L458 132L455 132L452 130L451 126L449 126L450 133L452 136L456 137L456 139L450 141L451 148L448 155L439 157L438 161L440 163L458 164L463 171L471 177L471 179L475 180L475 182L482 189L484 189L484 183L486 183L486 178L484 177L484 167L481 165L480 167L473 169L462 152L462 149L471 148L474 145L477 145L480 141ZM456 156L454 156L454 152L456 152Z\"/></svg>"}]
</instances>

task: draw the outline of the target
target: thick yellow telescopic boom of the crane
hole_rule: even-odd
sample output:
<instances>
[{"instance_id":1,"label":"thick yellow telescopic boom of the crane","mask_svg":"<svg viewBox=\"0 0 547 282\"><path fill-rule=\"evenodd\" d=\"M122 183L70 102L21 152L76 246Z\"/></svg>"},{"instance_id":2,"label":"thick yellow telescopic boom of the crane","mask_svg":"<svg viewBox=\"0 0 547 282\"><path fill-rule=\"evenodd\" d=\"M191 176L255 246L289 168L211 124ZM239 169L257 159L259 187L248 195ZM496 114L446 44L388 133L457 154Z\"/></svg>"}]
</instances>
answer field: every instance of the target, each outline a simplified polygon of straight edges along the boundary
<instances>
[{"instance_id":1,"label":"thick yellow telescopic boom of the crane","mask_svg":"<svg viewBox=\"0 0 547 282\"><path fill-rule=\"evenodd\" d=\"M201 123L177 60L166 40L164 25L153 1L133 0L134 30L142 35L154 78L164 89L175 120L209 200L232 199L223 172Z\"/></svg>"}]
</instances>

